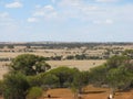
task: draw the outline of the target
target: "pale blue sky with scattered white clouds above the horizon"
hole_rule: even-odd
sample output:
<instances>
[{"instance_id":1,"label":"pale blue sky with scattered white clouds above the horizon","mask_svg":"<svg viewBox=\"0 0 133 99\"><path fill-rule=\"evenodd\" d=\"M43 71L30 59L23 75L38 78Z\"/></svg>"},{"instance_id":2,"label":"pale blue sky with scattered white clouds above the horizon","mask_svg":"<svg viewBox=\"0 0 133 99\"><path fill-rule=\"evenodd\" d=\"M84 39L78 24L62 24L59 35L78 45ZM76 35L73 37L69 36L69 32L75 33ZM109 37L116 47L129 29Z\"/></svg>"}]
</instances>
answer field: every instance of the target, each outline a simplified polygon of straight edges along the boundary
<instances>
[{"instance_id":1,"label":"pale blue sky with scattered white clouds above the horizon","mask_svg":"<svg viewBox=\"0 0 133 99\"><path fill-rule=\"evenodd\" d=\"M133 42L133 0L0 0L0 42Z\"/></svg>"}]
</instances>

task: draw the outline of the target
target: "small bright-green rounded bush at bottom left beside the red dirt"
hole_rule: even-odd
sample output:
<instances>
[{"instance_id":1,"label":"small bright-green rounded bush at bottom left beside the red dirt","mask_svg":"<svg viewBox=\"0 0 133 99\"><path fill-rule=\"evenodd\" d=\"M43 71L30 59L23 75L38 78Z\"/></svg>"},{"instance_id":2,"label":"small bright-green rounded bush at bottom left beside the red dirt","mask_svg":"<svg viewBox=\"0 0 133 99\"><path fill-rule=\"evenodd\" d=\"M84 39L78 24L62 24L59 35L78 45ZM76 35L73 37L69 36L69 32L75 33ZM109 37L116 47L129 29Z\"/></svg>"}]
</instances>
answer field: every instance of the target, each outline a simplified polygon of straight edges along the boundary
<instances>
[{"instance_id":1,"label":"small bright-green rounded bush at bottom left beside the red dirt","mask_svg":"<svg viewBox=\"0 0 133 99\"><path fill-rule=\"evenodd\" d=\"M39 87L32 87L28 95L27 95L27 99L38 99L39 97L41 97L43 94L42 89Z\"/></svg>"}]
</instances>

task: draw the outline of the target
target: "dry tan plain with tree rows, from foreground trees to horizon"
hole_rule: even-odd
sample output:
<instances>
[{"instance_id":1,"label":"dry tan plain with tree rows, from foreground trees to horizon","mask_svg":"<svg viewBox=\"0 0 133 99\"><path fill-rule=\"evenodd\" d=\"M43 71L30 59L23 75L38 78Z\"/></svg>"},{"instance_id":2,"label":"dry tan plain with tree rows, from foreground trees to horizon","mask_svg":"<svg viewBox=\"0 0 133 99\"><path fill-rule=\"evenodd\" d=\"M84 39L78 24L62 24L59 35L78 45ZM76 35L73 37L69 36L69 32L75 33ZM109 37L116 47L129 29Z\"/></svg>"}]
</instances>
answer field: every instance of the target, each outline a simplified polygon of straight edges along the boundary
<instances>
[{"instance_id":1,"label":"dry tan plain with tree rows, from foreground trees to horizon","mask_svg":"<svg viewBox=\"0 0 133 99\"><path fill-rule=\"evenodd\" d=\"M76 67L80 70L99 66L113 55L133 50L132 43L0 43L0 70L6 74L7 64L21 54L44 56L52 68ZM0 77L2 78L2 77Z\"/></svg>"}]
</instances>

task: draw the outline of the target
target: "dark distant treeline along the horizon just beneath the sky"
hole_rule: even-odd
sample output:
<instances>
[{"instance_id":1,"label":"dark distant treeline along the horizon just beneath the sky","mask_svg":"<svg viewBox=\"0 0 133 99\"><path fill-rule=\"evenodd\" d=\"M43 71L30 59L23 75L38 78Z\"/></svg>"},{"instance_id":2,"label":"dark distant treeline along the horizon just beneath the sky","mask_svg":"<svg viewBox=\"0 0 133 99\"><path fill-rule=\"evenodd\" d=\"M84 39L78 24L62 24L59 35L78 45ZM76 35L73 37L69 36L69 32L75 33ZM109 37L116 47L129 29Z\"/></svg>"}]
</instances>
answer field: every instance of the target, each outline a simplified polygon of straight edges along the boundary
<instances>
[{"instance_id":1,"label":"dark distant treeline along the horizon just beneath the sky","mask_svg":"<svg viewBox=\"0 0 133 99\"><path fill-rule=\"evenodd\" d=\"M12 46L43 46L44 48L73 48L73 47L82 47L82 46L86 46L86 47L93 47L93 46L98 46L98 45L133 45L133 43L124 43L124 42L120 42L120 43L58 43L58 42L33 42L33 43L0 43L0 47L2 48L3 46L9 46L12 48Z\"/></svg>"}]
</instances>

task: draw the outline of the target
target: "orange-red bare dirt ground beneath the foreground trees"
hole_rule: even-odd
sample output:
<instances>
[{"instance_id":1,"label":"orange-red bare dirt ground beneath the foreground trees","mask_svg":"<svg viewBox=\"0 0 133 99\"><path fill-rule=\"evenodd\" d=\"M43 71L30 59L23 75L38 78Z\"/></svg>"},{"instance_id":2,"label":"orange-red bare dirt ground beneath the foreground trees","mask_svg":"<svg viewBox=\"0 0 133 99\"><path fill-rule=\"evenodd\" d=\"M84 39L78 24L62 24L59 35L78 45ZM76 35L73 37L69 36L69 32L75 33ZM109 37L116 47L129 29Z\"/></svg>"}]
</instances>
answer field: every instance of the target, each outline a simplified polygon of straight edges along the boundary
<instances>
[{"instance_id":1,"label":"orange-red bare dirt ground beneath the foreground trees","mask_svg":"<svg viewBox=\"0 0 133 99\"><path fill-rule=\"evenodd\" d=\"M84 91L85 92L81 95L81 99L108 99L110 94L110 90L106 88L95 88L92 86L86 87ZM48 95L50 95L51 98L48 98ZM40 99L74 99L74 95L71 89L50 89L43 94L43 97ZM116 92L114 99L133 99L133 90Z\"/></svg>"}]
</instances>

